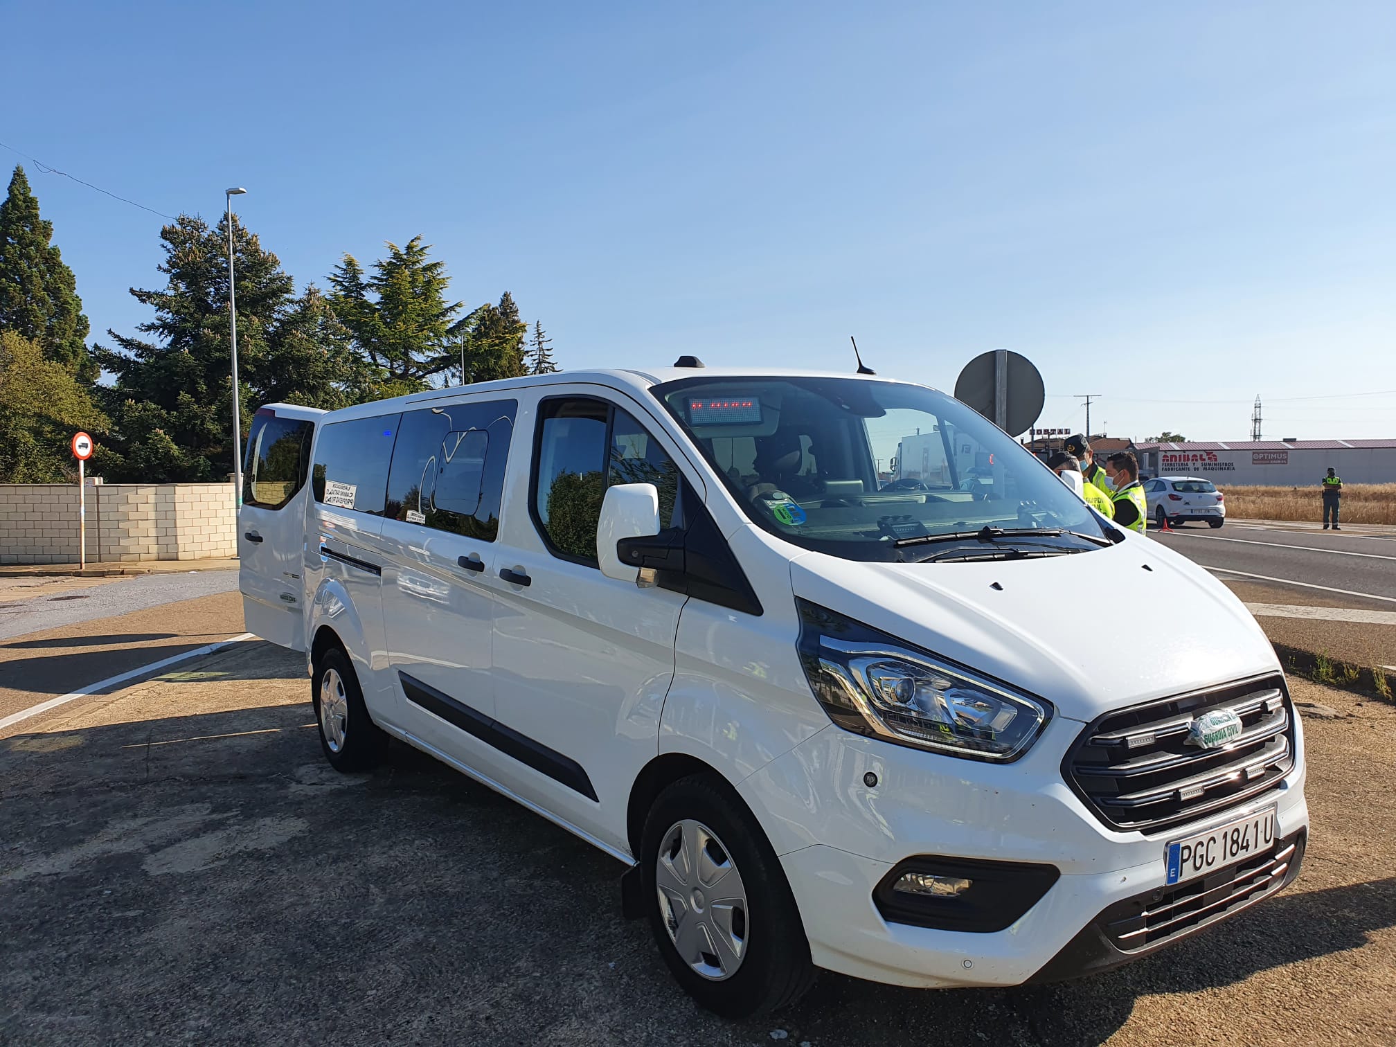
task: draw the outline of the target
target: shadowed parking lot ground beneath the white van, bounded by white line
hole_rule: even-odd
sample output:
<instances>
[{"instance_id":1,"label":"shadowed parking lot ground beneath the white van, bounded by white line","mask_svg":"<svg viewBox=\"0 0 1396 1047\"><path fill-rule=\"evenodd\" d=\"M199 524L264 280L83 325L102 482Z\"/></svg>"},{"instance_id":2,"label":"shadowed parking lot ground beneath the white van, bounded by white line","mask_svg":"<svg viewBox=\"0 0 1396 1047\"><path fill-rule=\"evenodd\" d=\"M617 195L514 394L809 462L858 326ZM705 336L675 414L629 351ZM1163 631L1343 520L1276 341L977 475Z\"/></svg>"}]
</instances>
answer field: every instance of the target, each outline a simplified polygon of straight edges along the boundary
<instances>
[{"instance_id":1,"label":"shadowed parking lot ground beneath the white van, bounded by white line","mask_svg":"<svg viewBox=\"0 0 1396 1047\"><path fill-rule=\"evenodd\" d=\"M237 644L0 738L0 1041L1392 1044L1396 708L1294 691L1333 716L1286 893L1092 980L825 973L732 1023L620 917L613 859L406 748L335 773L302 658Z\"/></svg>"}]
</instances>

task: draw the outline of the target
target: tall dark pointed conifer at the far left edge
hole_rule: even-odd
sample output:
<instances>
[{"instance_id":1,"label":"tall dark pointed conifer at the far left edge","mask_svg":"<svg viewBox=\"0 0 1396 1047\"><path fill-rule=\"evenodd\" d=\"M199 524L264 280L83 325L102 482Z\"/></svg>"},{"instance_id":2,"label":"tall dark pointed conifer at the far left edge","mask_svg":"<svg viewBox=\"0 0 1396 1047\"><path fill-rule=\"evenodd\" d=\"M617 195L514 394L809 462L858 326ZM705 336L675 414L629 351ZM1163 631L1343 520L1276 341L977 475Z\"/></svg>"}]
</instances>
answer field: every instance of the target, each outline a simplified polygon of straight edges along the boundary
<instances>
[{"instance_id":1,"label":"tall dark pointed conifer at the far left edge","mask_svg":"<svg viewBox=\"0 0 1396 1047\"><path fill-rule=\"evenodd\" d=\"M15 166L0 204L0 331L38 342L45 357L91 383L98 370L84 345L88 318L73 269L52 239L53 223L39 216L24 168Z\"/></svg>"}]
</instances>

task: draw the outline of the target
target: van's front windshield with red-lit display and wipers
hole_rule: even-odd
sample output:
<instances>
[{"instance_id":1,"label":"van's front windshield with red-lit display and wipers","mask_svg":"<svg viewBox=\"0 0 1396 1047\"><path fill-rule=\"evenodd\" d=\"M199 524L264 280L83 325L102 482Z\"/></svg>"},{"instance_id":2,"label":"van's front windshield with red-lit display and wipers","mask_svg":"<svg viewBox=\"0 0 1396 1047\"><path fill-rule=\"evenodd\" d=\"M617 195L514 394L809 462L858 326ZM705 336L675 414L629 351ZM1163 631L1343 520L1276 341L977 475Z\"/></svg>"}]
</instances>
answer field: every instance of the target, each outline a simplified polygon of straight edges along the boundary
<instances>
[{"instance_id":1,"label":"van's front windshield with red-lit display and wipers","mask_svg":"<svg viewBox=\"0 0 1396 1047\"><path fill-rule=\"evenodd\" d=\"M681 378L652 392L751 519L805 549L921 561L1107 544L1099 518L1025 447L923 385ZM984 528L1005 532L993 550Z\"/></svg>"}]
</instances>

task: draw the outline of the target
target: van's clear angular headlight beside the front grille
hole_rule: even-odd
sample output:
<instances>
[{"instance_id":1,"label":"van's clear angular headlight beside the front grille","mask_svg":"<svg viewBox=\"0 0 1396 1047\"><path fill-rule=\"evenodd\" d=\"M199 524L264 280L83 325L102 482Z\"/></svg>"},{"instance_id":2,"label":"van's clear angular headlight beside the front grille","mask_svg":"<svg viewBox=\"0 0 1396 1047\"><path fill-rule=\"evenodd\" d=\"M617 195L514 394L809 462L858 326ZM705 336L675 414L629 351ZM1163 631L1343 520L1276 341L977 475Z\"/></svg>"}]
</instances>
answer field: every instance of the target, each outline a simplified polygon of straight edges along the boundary
<instances>
[{"instance_id":1,"label":"van's clear angular headlight beside the front grille","mask_svg":"<svg viewBox=\"0 0 1396 1047\"><path fill-rule=\"evenodd\" d=\"M800 662L838 726L951 757L1008 762L1037 740L1051 705L951 666L895 637L797 599Z\"/></svg>"}]
</instances>

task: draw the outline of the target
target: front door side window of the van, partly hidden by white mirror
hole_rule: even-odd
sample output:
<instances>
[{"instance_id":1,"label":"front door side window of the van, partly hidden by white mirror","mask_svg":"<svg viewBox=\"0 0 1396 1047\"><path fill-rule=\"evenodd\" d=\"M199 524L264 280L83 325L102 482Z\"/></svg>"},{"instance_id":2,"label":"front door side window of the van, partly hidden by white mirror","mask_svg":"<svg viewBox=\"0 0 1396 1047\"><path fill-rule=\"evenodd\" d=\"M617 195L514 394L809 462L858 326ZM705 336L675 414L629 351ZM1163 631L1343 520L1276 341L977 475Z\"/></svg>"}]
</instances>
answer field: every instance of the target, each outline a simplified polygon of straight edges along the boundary
<instances>
[{"instance_id":1,"label":"front door side window of the van, partly hidden by white mirror","mask_svg":"<svg viewBox=\"0 0 1396 1047\"><path fill-rule=\"evenodd\" d=\"M635 419L593 399L543 405L533 508L553 551L596 563L606 489L652 483L660 526L674 525L678 466Z\"/></svg>"}]
</instances>

